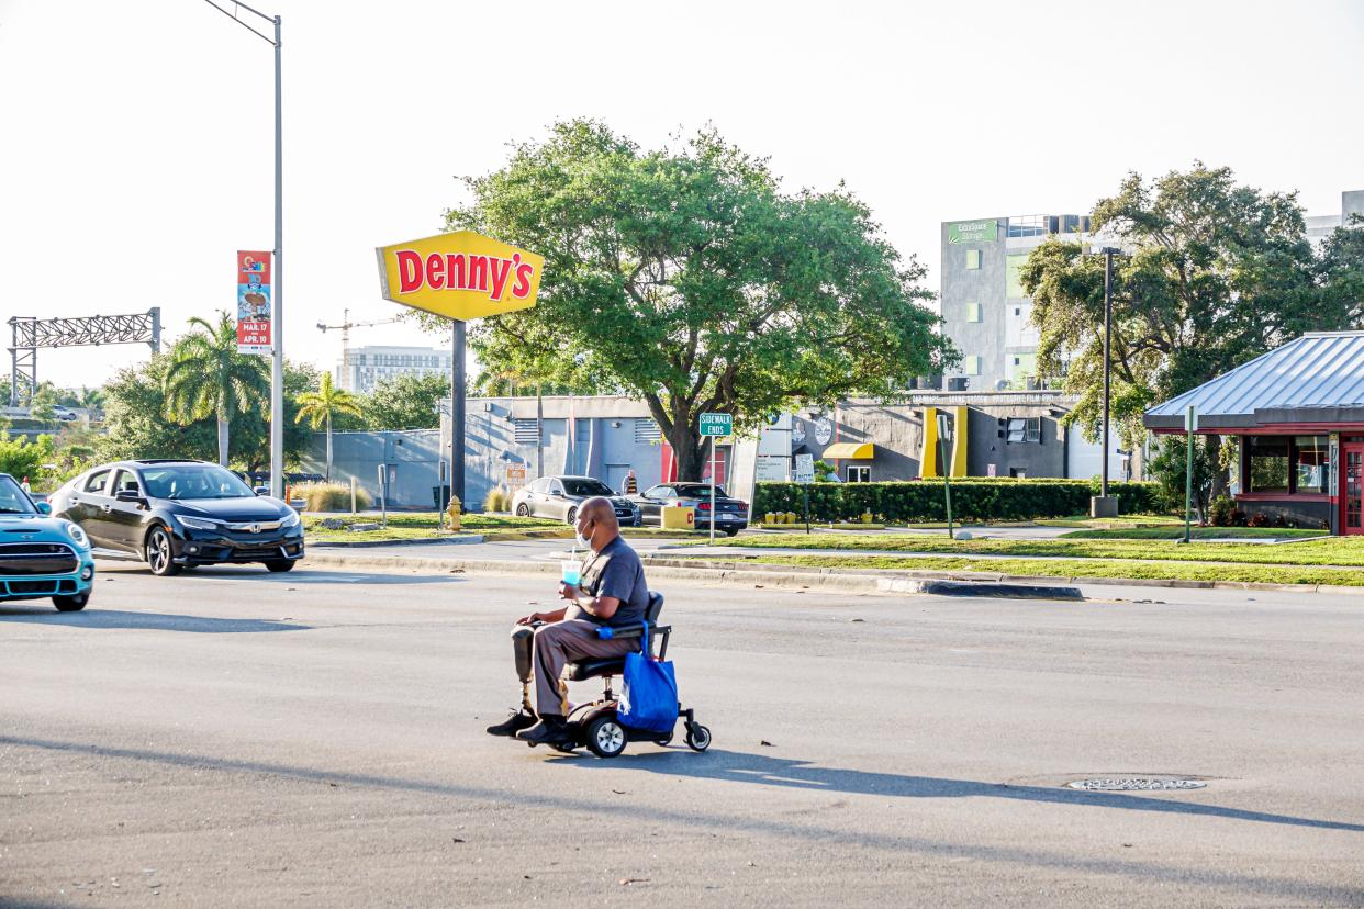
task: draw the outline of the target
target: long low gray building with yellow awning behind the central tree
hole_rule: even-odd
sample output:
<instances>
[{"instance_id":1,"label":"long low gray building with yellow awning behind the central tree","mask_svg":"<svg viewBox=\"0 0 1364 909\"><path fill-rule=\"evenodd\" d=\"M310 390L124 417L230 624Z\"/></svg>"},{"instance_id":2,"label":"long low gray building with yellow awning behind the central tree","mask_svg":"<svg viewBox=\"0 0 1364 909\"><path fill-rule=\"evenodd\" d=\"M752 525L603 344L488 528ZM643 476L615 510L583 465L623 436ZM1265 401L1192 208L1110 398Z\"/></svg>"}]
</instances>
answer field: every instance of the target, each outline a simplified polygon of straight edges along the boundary
<instances>
[{"instance_id":1,"label":"long low gray building with yellow awning behind the central tree","mask_svg":"<svg viewBox=\"0 0 1364 909\"><path fill-rule=\"evenodd\" d=\"M1098 476L1098 446L1061 418L1073 399L1060 391L922 391L893 403L854 399L831 409L780 414L757 440L717 447L716 476L731 495L752 495L754 480L787 480L791 461L812 454L843 482L953 477ZM621 397L547 397L537 418L535 398L471 398L465 410L465 507L481 510L495 487L516 489L540 476L585 474L621 491L674 478L675 462L648 409ZM937 414L958 437L940 451ZM964 427L964 433L958 432ZM378 500L378 472L387 476L390 508L432 508L445 482L449 417L441 429L338 432L331 478L356 484ZM1142 478L1142 452L1113 451L1109 476ZM307 472L326 466L326 436L318 433L303 459ZM702 478L709 476L709 465Z\"/></svg>"}]
</instances>

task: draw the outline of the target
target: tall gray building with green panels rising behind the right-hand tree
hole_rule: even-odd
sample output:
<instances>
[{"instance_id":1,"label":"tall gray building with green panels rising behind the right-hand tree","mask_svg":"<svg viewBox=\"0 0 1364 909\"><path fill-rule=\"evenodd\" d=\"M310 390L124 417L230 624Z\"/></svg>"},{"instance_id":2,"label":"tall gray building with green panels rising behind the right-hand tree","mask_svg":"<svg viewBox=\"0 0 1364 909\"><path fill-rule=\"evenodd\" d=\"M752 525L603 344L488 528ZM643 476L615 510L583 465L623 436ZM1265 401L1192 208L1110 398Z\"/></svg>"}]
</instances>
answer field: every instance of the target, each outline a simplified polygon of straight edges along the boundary
<instances>
[{"instance_id":1,"label":"tall gray building with green panels rising behind the right-hand tree","mask_svg":"<svg viewBox=\"0 0 1364 909\"><path fill-rule=\"evenodd\" d=\"M1088 230L1088 215L1073 214L943 222L943 331L962 352L944 390L1038 387L1038 334L1019 268L1048 237L1080 238Z\"/></svg>"}]
</instances>

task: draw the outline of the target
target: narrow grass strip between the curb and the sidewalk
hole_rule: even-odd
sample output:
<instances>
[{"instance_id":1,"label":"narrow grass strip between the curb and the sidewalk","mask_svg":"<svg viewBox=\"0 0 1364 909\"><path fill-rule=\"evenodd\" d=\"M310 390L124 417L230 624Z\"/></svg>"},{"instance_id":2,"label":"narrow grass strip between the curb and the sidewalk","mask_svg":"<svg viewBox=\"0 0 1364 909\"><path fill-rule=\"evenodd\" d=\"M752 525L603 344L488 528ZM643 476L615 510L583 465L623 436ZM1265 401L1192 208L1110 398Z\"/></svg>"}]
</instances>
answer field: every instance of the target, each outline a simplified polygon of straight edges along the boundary
<instances>
[{"instance_id":1,"label":"narrow grass strip between the curb and the sidewalk","mask_svg":"<svg viewBox=\"0 0 1364 909\"><path fill-rule=\"evenodd\" d=\"M726 556L674 556L697 563L726 561ZM745 557L743 564L798 566L807 568L859 568L899 571L979 571L1042 578L1140 578L1155 581L1239 581L1255 583L1364 586L1364 572L1299 566L1213 566L1174 561L953 559L941 556L805 556Z\"/></svg>"}]
</instances>

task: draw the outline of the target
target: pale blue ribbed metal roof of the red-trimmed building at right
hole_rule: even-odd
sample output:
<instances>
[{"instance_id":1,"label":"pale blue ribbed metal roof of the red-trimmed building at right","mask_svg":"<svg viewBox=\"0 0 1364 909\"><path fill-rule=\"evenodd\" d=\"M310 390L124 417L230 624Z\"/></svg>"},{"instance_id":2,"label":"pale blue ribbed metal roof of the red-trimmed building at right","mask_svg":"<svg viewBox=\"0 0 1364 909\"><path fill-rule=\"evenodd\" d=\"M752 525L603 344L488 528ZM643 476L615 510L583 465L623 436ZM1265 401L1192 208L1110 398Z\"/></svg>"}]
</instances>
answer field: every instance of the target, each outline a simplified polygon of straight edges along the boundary
<instances>
[{"instance_id":1,"label":"pale blue ribbed metal roof of the red-trimmed building at right","mask_svg":"<svg viewBox=\"0 0 1364 909\"><path fill-rule=\"evenodd\" d=\"M1146 412L1147 429L1364 422L1364 331L1314 331Z\"/></svg>"}]
</instances>

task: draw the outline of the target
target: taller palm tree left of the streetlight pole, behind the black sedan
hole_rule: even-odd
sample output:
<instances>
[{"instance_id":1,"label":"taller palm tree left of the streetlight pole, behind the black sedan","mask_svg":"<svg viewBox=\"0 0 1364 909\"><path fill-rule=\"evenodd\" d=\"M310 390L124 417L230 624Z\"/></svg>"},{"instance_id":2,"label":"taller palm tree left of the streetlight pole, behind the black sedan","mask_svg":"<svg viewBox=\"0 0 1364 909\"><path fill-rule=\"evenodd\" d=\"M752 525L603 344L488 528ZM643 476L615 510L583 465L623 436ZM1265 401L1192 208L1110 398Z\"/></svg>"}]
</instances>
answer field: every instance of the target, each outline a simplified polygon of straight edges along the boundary
<instances>
[{"instance_id":1,"label":"taller palm tree left of the streetlight pole, behind the black sedan","mask_svg":"<svg viewBox=\"0 0 1364 909\"><path fill-rule=\"evenodd\" d=\"M270 380L265 360L237 353L237 327L226 311L218 324L190 319L194 333L176 342L165 375L166 417L190 425L209 416L218 420L218 463L228 466L228 421L232 413L261 407Z\"/></svg>"}]
</instances>

